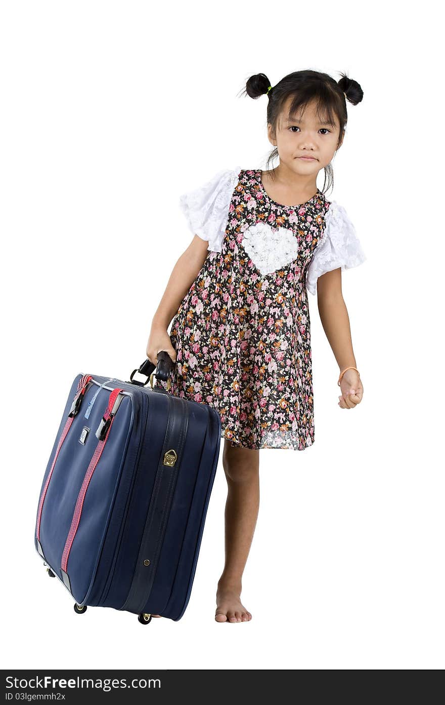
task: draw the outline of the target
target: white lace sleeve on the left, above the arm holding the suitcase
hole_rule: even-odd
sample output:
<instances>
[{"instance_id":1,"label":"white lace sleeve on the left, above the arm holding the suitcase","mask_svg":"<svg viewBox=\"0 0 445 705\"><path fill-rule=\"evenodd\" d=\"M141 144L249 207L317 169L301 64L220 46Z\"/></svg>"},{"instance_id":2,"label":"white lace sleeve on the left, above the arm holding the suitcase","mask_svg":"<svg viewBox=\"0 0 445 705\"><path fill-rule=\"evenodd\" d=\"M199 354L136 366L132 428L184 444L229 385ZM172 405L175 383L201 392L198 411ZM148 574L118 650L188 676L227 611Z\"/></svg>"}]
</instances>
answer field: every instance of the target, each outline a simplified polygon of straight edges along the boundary
<instances>
[{"instance_id":1,"label":"white lace sleeve on the left, above the arm holding the suitcase","mask_svg":"<svg viewBox=\"0 0 445 705\"><path fill-rule=\"evenodd\" d=\"M204 185L180 197L180 209L194 235L208 240L208 250L221 252L230 200L241 167L223 169Z\"/></svg>"}]
</instances>

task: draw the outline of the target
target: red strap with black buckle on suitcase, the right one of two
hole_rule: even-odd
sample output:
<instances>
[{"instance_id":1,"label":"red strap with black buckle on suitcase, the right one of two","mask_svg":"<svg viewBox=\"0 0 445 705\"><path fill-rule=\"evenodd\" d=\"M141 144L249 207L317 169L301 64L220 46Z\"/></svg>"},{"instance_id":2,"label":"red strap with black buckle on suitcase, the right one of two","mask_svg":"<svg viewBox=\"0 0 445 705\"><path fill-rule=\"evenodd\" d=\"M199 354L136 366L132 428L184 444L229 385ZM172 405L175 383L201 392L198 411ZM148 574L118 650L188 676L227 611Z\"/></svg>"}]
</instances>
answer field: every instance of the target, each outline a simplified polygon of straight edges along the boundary
<instances>
[{"instance_id":1,"label":"red strap with black buckle on suitcase, the right one of two","mask_svg":"<svg viewBox=\"0 0 445 705\"><path fill-rule=\"evenodd\" d=\"M89 462L89 466L87 467L87 472L84 475L84 479L82 482L82 486L80 488L79 494L77 496L77 501L73 513L73 519L71 520L71 526L70 530L68 532L68 537L66 538L65 541L65 548L63 548L63 554L62 554L62 560L61 560L61 569L63 571L62 575L65 580L65 577L68 579L67 575L67 565L68 565L68 558L70 556L70 551L73 546L73 541L75 539L76 533L77 533L77 528L79 527L79 522L80 522L80 517L82 516L82 508L83 508L83 503L84 503L84 498L85 495L87 494L87 489L90 480L92 479L92 476L94 474L94 470L96 469L96 466L101 458L102 451L104 450L104 446L106 444L106 441L108 441L108 436L111 431L111 427L113 425L113 420L115 417L115 413L117 412L120 402L123 400L123 394L125 394L125 390L120 389L120 388L115 388L110 394L110 398L108 400L108 405L106 408L106 412L104 416L101 419L101 423L99 424L99 427L96 431L96 437L99 439L99 443L96 446L96 450L94 450L93 457L91 461Z\"/></svg>"}]
</instances>

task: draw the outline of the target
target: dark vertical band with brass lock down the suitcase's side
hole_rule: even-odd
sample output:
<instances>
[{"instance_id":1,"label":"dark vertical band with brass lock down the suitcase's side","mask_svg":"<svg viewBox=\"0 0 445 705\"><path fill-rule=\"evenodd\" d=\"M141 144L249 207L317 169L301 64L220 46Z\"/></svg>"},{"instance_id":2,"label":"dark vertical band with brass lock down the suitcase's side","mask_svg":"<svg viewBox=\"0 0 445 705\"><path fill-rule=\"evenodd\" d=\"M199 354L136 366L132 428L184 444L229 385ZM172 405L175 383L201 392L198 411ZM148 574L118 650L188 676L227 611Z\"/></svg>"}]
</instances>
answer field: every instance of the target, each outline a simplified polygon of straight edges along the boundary
<instances>
[{"instance_id":1,"label":"dark vertical band with brass lock down the suitcase's side","mask_svg":"<svg viewBox=\"0 0 445 705\"><path fill-rule=\"evenodd\" d=\"M165 396L168 398L168 423L161 459L156 472L132 584L127 599L120 608L134 613L144 611L153 587L177 473L182 461L184 441L187 437L189 423L187 402L180 397ZM173 413L175 406L179 408ZM169 451L173 452L169 453Z\"/></svg>"}]
</instances>

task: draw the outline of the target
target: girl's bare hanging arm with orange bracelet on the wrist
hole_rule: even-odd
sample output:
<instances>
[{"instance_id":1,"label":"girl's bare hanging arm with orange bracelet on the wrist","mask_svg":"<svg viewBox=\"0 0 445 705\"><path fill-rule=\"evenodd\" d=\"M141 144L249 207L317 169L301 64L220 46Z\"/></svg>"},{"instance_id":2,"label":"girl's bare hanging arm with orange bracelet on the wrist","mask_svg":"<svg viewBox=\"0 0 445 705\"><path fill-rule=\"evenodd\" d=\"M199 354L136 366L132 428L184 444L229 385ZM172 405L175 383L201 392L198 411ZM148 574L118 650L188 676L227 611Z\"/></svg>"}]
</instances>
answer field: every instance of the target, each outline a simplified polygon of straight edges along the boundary
<instances>
[{"instance_id":1,"label":"girl's bare hanging arm with orange bracelet on the wrist","mask_svg":"<svg viewBox=\"0 0 445 705\"><path fill-rule=\"evenodd\" d=\"M358 367L351 341L349 315L341 293L341 267L332 269L317 280L318 312L323 330L339 365L339 374L346 367ZM363 384L355 369L341 377L339 407L353 409L363 398Z\"/></svg>"}]
</instances>

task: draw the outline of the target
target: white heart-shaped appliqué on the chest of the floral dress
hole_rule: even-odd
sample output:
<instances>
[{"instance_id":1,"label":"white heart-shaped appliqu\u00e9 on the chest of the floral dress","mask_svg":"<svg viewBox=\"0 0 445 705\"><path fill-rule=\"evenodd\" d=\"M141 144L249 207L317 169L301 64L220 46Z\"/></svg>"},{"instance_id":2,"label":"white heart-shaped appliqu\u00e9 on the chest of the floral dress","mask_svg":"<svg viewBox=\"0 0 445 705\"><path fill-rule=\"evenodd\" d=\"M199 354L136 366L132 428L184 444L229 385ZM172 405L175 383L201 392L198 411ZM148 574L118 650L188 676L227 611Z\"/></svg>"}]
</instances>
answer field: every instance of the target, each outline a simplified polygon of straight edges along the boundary
<instances>
[{"instance_id":1,"label":"white heart-shaped appliqu\u00e9 on the chest of the floral dress","mask_svg":"<svg viewBox=\"0 0 445 705\"><path fill-rule=\"evenodd\" d=\"M257 223L243 234L241 244L263 276L286 266L298 256L299 245L292 230L273 230L267 223Z\"/></svg>"}]
</instances>

